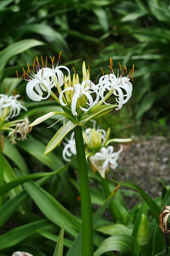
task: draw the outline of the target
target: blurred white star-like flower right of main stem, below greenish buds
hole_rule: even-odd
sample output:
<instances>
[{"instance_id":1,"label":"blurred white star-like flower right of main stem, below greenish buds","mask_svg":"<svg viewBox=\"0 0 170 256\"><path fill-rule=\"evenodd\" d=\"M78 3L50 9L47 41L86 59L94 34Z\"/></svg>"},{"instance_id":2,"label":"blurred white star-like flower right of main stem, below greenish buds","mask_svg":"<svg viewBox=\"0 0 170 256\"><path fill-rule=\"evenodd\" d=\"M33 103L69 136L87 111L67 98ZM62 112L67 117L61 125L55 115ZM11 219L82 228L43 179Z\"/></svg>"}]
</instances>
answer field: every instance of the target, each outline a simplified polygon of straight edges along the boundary
<instances>
[{"instance_id":1,"label":"blurred white star-like flower right of main stem, below greenish buds","mask_svg":"<svg viewBox=\"0 0 170 256\"><path fill-rule=\"evenodd\" d=\"M113 150L113 146L102 147L100 152L90 156L92 166L99 172L102 178L105 178L105 173L109 171L109 168L114 170L118 166L117 159L123 150L123 146L121 145L118 152L113 152Z\"/></svg>"}]
</instances>

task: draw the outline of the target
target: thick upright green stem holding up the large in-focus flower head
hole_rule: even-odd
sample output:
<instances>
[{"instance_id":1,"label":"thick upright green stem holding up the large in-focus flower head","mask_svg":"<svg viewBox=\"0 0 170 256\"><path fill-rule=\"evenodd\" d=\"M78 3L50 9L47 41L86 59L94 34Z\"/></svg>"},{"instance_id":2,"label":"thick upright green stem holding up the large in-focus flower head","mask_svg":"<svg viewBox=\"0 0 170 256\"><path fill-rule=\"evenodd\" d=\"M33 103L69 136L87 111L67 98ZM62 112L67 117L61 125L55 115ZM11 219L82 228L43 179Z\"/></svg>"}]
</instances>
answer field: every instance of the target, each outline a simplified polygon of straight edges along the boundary
<instances>
[{"instance_id":1,"label":"thick upright green stem holding up the large in-focus flower head","mask_svg":"<svg viewBox=\"0 0 170 256\"><path fill-rule=\"evenodd\" d=\"M87 161L83 133L80 126L74 128L75 144L77 150L77 164L79 171L81 215L82 215L82 246L81 256L93 256L93 221Z\"/></svg>"}]
</instances>

